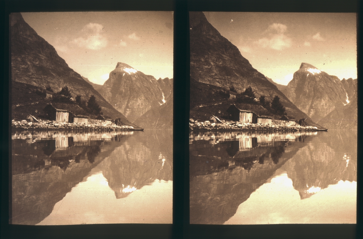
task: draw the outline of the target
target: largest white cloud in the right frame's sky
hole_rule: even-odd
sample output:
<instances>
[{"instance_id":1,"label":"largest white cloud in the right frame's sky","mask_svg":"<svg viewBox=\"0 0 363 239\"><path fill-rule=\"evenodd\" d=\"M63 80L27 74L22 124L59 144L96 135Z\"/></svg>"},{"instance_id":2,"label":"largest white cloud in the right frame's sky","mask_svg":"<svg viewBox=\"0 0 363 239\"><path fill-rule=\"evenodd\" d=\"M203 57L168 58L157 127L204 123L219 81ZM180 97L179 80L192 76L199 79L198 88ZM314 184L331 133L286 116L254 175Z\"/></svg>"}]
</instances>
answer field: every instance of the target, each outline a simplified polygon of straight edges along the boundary
<instances>
[{"instance_id":1,"label":"largest white cloud in the right frame's sky","mask_svg":"<svg viewBox=\"0 0 363 239\"><path fill-rule=\"evenodd\" d=\"M283 50L291 46L291 39L284 33L286 32L286 25L280 23L274 23L269 25L264 34L268 34L268 37L261 38L257 41L257 44L263 48L271 48L274 50Z\"/></svg>"}]
</instances>

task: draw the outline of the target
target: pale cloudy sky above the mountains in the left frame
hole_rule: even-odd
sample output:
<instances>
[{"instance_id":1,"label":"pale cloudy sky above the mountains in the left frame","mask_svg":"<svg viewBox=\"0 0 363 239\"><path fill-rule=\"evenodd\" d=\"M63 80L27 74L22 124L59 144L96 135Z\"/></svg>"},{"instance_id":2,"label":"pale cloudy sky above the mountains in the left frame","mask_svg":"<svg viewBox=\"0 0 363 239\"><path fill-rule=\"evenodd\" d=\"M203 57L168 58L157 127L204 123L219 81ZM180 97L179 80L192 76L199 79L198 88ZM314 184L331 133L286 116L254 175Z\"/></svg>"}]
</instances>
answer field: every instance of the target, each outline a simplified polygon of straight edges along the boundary
<instances>
[{"instance_id":1,"label":"pale cloudy sky above the mountains in the left frame","mask_svg":"<svg viewBox=\"0 0 363 239\"><path fill-rule=\"evenodd\" d=\"M173 12L26 12L26 23L91 82L109 78L117 62L173 78Z\"/></svg>"}]
</instances>

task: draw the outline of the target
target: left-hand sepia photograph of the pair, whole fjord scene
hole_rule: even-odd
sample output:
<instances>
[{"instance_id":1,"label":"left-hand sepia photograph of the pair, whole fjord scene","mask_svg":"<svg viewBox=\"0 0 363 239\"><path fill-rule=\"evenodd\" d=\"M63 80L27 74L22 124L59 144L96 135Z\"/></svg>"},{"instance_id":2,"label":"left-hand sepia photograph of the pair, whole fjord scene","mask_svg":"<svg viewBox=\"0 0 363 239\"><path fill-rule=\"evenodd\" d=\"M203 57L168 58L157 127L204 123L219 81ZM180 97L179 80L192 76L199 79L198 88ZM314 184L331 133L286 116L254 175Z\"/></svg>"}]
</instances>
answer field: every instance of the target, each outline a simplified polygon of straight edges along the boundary
<instances>
[{"instance_id":1,"label":"left-hand sepia photograph of the pair, whole fjord scene","mask_svg":"<svg viewBox=\"0 0 363 239\"><path fill-rule=\"evenodd\" d=\"M173 222L173 15L9 15L10 224Z\"/></svg>"}]
</instances>

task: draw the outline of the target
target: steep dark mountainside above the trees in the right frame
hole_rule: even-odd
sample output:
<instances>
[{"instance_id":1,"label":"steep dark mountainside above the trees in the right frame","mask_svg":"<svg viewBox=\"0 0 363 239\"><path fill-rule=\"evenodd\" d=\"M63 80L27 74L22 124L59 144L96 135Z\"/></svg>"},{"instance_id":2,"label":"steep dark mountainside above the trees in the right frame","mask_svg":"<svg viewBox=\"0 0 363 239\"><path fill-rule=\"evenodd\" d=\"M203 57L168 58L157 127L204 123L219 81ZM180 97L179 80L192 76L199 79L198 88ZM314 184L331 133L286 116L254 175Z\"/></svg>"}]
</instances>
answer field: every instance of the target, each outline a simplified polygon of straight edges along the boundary
<instances>
[{"instance_id":1,"label":"steep dark mountainside above the trees in the right frame","mask_svg":"<svg viewBox=\"0 0 363 239\"><path fill-rule=\"evenodd\" d=\"M251 86L256 98L264 95L266 100L272 101L273 97L277 95L286 107L289 116L296 119L307 118L306 122L310 125L321 127L299 110L278 90L276 85L254 69L249 61L241 55L238 48L221 36L217 29L207 21L202 12L190 12L189 24L191 85L192 81L195 81L193 84L201 89L204 88L204 83L218 86L221 89L234 88L238 93ZM192 97L198 98L197 95L192 96L191 92ZM213 97L209 97L210 104L213 103ZM205 115L208 118L210 116L210 114Z\"/></svg>"}]
</instances>

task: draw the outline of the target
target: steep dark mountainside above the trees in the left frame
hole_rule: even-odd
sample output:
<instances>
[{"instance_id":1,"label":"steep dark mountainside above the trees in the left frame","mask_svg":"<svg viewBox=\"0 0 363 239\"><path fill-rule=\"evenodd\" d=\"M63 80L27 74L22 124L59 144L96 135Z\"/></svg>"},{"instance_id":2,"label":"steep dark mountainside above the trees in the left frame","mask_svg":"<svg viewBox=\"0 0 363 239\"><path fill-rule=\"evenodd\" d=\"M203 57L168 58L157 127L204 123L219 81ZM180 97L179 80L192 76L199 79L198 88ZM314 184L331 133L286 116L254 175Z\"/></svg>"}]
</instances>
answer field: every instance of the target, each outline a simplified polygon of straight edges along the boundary
<instances>
[{"instance_id":1,"label":"steep dark mountainside above the trees in the left frame","mask_svg":"<svg viewBox=\"0 0 363 239\"><path fill-rule=\"evenodd\" d=\"M10 15L11 79L43 89L51 87L54 92L68 86L72 96L80 95L87 100L96 97L102 112L111 118L127 118L115 110L82 76L69 68L56 49L40 37L23 19L20 13Z\"/></svg>"}]
</instances>

